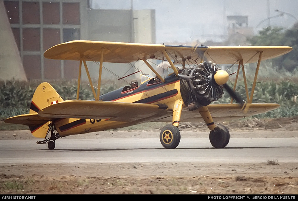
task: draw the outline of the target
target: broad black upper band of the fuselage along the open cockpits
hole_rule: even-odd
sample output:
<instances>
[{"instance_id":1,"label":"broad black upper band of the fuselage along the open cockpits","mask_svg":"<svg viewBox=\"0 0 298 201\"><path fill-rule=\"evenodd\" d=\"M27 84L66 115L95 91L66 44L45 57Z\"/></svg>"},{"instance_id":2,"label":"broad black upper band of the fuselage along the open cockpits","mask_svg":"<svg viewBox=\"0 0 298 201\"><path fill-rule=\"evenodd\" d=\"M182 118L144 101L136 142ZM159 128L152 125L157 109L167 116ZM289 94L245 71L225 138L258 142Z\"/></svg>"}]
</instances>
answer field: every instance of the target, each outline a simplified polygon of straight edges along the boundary
<instances>
[{"instance_id":1,"label":"broad black upper band of the fuselage along the open cockpits","mask_svg":"<svg viewBox=\"0 0 298 201\"><path fill-rule=\"evenodd\" d=\"M150 85L150 86L147 86L148 81L144 82L143 84L141 84L137 89L135 89L134 91L131 91L130 93L122 93L122 88L119 88L115 91L111 91L111 92L108 92L106 94L103 94L100 96L100 100L102 101L115 101L117 99L122 99L126 96L131 96L131 95L134 95L134 94L138 94L138 93L141 93L141 92L145 92L145 91L150 91L150 90L153 90L155 88L160 88L160 87L163 87L165 85L168 85L170 83L174 83L174 82L177 82L179 79L176 77L176 75L172 74L168 77L166 77L164 79L164 83L161 82L159 84L156 84L156 85Z\"/></svg>"}]
</instances>

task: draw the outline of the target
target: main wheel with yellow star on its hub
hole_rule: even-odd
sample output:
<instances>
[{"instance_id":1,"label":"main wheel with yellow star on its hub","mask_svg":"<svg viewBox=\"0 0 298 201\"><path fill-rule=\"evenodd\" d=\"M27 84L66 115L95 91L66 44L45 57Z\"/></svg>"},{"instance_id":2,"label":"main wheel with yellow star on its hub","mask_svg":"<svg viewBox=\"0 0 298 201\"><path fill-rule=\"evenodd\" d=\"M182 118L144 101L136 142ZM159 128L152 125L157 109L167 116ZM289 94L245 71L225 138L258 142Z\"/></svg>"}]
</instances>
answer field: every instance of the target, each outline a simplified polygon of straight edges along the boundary
<instances>
[{"instance_id":1,"label":"main wheel with yellow star on its hub","mask_svg":"<svg viewBox=\"0 0 298 201\"><path fill-rule=\"evenodd\" d=\"M160 131L159 140L166 149L175 149L179 145L180 139L180 131L176 126L167 125Z\"/></svg>"}]
</instances>

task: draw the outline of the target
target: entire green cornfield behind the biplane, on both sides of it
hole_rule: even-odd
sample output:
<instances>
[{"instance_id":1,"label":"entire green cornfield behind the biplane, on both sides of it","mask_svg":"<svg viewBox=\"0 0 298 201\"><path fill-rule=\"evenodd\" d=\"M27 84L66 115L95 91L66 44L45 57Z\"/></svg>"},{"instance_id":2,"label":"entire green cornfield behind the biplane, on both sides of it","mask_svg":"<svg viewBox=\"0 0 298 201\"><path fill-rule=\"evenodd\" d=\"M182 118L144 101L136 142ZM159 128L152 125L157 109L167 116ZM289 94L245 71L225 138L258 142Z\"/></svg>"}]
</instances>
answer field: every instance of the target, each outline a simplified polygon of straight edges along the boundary
<instances>
[{"instance_id":1,"label":"entire green cornfield behind the biplane, on both sides of it","mask_svg":"<svg viewBox=\"0 0 298 201\"><path fill-rule=\"evenodd\" d=\"M36 87L41 83L40 80L30 82L20 82L16 80L0 82L0 120L11 116L29 113L31 99ZM76 99L77 80L53 80L49 83L60 94L63 100ZM94 82L96 83L96 82ZM233 81L228 83L231 87ZM248 82L249 92L252 88L252 82ZM101 94L120 88L115 82L105 80L102 82ZM237 83L236 91L246 98L244 83L241 79ZM263 79L258 80L254 91L253 101L272 102L281 105L278 109L260 114L257 118L280 118L298 116L298 83L293 79ZM90 85L83 82L80 86L80 99L94 99ZM231 98L227 93L214 103L229 103Z\"/></svg>"}]
</instances>

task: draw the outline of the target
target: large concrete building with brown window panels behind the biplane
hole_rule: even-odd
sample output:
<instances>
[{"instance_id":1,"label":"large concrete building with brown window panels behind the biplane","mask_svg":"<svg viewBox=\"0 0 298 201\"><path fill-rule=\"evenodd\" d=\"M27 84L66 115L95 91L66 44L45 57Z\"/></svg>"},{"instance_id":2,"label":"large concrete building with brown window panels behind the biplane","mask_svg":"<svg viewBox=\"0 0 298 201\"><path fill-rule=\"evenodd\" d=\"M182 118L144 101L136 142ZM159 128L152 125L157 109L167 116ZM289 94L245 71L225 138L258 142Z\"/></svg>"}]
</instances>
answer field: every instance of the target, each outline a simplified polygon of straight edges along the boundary
<instances>
[{"instance_id":1,"label":"large concrete building with brown window panels behind the biplane","mask_svg":"<svg viewBox=\"0 0 298 201\"><path fill-rule=\"evenodd\" d=\"M90 8L89 1L86 0L0 1L4 4L15 46L19 50L19 61L23 64L28 80L77 79L78 61L44 58L44 51L59 43L70 40L155 43L154 10L95 10ZM1 15L0 20L3 18ZM7 46L7 39L1 37L0 44ZM1 57L0 60L12 59ZM90 66L91 76L98 79L97 64L88 62L87 65ZM120 66L104 64L112 72L117 70L119 77L125 72L135 71L134 68L128 70L131 68L128 64ZM15 71L12 68L10 70ZM0 80L7 79L2 76L2 69L0 72ZM83 79L87 79L86 74L83 71L82 73ZM114 76L103 71L103 78ZM18 76L14 77L19 79Z\"/></svg>"}]
</instances>

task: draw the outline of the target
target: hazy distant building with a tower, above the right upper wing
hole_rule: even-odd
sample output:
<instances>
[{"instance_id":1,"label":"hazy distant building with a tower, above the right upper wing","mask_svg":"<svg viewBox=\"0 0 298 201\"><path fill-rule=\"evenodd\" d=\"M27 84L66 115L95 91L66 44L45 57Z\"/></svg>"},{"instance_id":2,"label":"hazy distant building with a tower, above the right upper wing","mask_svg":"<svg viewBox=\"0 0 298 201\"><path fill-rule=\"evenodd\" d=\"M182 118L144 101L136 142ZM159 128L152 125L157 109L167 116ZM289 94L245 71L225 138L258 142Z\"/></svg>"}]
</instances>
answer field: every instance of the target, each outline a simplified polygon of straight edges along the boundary
<instances>
[{"instance_id":1,"label":"hazy distant building with a tower, above the right upper wing","mask_svg":"<svg viewBox=\"0 0 298 201\"><path fill-rule=\"evenodd\" d=\"M227 16L228 39L227 45L247 45L247 39L251 38L253 27L248 26L248 16L232 15Z\"/></svg>"}]
</instances>

